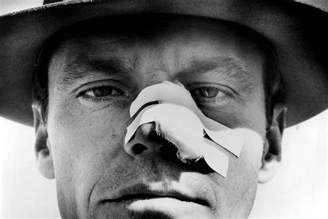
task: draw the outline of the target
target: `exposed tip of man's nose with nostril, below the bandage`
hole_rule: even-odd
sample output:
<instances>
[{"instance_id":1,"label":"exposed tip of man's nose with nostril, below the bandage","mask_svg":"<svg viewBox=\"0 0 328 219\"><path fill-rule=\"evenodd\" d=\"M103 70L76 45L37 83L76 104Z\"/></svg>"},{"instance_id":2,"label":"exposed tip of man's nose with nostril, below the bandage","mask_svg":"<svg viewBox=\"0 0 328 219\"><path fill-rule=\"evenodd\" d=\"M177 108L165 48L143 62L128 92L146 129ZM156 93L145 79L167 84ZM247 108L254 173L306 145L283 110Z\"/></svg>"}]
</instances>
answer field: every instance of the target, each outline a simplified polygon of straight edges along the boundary
<instances>
[{"instance_id":1,"label":"exposed tip of man's nose with nostril, below the bandage","mask_svg":"<svg viewBox=\"0 0 328 219\"><path fill-rule=\"evenodd\" d=\"M165 154L172 149L174 151L174 148L175 146L172 146L163 136L158 135L155 122L139 126L134 137L124 146L125 152L134 158Z\"/></svg>"}]
</instances>

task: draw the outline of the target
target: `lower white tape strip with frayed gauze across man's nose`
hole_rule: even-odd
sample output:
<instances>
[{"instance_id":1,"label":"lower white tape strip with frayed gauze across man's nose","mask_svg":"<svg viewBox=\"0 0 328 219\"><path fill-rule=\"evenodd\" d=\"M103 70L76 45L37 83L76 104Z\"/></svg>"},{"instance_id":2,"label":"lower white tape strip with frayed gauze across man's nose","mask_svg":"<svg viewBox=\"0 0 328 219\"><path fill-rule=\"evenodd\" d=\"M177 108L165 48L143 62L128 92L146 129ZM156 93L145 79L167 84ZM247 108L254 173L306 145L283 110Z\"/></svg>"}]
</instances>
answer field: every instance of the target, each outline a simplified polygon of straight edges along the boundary
<instances>
[{"instance_id":1,"label":"lower white tape strip with frayed gauze across man's nose","mask_svg":"<svg viewBox=\"0 0 328 219\"><path fill-rule=\"evenodd\" d=\"M203 124L190 109L176 104L156 104L143 108L127 127L125 142L129 142L138 126L148 122L161 126L162 136L178 148L178 158L183 162L204 158L208 166L226 178L228 156L214 142L210 144L211 141L203 137Z\"/></svg>"}]
</instances>

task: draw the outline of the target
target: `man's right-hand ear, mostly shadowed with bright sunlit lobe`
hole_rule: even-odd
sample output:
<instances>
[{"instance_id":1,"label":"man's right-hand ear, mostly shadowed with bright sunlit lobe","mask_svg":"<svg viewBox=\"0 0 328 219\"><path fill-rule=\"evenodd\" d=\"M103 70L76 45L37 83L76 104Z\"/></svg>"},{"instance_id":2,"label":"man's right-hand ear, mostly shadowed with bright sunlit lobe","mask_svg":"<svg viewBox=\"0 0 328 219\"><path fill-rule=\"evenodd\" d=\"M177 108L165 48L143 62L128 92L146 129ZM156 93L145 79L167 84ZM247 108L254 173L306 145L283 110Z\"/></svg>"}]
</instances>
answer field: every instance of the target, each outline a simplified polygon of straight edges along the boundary
<instances>
[{"instance_id":1,"label":"man's right-hand ear, mostly shadowed with bright sunlit lobe","mask_svg":"<svg viewBox=\"0 0 328 219\"><path fill-rule=\"evenodd\" d=\"M278 103L273 108L271 126L268 127L264 140L262 167L259 170L259 183L271 180L277 171L278 162L282 158L282 134L286 126L286 105Z\"/></svg>"}]
</instances>

